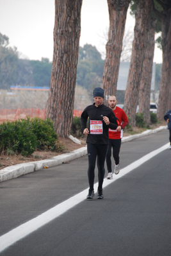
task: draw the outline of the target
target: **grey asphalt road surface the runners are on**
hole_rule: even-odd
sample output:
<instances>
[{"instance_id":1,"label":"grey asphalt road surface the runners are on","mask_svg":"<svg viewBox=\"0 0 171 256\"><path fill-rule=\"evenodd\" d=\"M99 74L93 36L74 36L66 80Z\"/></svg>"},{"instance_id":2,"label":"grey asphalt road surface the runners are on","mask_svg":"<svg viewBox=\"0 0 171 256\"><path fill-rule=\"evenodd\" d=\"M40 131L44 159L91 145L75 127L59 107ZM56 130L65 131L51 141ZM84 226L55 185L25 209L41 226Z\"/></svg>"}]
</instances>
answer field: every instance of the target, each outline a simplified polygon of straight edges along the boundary
<instances>
[{"instance_id":1,"label":"grey asphalt road surface the runners are on","mask_svg":"<svg viewBox=\"0 0 171 256\"><path fill-rule=\"evenodd\" d=\"M104 200L81 200L3 250L2 256L170 256L171 150L122 176L122 169L168 142L168 130L122 144L120 178ZM0 183L0 241L10 230L88 192L87 156ZM97 182L97 170L96 170ZM116 180L115 180L116 179ZM85 191L86 189L86 191ZM54 211L56 208L54 208ZM37 225L37 219L35 224ZM26 226L22 226L24 232ZM17 230L14 233L17 235ZM11 239L10 237L9 239ZM0 244L0 248L1 248Z\"/></svg>"}]
</instances>

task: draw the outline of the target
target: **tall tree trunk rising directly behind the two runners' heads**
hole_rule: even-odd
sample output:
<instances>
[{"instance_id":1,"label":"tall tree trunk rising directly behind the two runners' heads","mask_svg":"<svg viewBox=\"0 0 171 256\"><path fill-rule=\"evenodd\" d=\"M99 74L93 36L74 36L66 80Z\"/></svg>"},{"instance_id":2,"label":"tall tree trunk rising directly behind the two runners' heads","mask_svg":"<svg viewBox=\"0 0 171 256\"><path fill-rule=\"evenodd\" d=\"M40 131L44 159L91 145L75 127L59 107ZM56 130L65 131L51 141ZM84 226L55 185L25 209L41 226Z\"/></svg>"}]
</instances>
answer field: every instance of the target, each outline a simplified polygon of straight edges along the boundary
<instances>
[{"instance_id":1,"label":"tall tree trunk rising directly behind the two runners' heads","mask_svg":"<svg viewBox=\"0 0 171 256\"><path fill-rule=\"evenodd\" d=\"M104 95L106 95L104 103L106 103L108 96L114 95L117 90L122 40L124 37L127 8L130 2L131 0L108 0L110 28L102 77L102 88L104 89Z\"/></svg>"}]
</instances>

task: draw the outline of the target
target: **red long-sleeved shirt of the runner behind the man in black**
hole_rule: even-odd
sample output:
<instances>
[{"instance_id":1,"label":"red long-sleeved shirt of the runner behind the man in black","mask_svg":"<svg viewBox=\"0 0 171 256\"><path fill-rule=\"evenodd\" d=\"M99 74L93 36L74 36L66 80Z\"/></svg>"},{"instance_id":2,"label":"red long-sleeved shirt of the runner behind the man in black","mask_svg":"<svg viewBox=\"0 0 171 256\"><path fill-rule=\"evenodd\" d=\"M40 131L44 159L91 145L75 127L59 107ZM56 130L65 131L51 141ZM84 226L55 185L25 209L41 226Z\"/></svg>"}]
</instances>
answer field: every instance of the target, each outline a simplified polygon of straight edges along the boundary
<instances>
[{"instance_id":1,"label":"red long-sleeved shirt of the runner behind the man in black","mask_svg":"<svg viewBox=\"0 0 171 256\"><path fill-rule=\"evenodd\" d=\"M115 117L118 118L118 126L121 126L122 129L128 124L128 118L126 113L122 108L119 108L116 106L115 110L113 110L113 113L115 114ZM117 130L111 130L109 129L109 139L122 139L123 136L123 130L118 132Z\"/></svg>"}]
</instances>

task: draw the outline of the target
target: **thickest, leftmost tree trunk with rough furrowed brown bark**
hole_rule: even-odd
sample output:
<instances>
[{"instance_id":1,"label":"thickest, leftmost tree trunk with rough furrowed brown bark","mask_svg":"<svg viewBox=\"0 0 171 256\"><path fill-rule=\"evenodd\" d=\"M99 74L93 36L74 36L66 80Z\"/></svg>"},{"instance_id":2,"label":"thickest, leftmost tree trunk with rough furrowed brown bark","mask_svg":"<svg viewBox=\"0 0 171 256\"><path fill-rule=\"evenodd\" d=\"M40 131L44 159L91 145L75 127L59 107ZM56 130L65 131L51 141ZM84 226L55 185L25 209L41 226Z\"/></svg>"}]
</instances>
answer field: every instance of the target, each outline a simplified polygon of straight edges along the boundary
<instances>
[{"instance_id":1,"label":"thickest, leftmost tree trunk with rough furrowed brown bark","mask_svg":"<svg viewBox=\"0 0 171 256\"><path fill-rule=\"evenodd\" d=\"M74 110L82 0L55 0L54 51L47 114L68 137Z\"/></svg>"}]
</instances>

